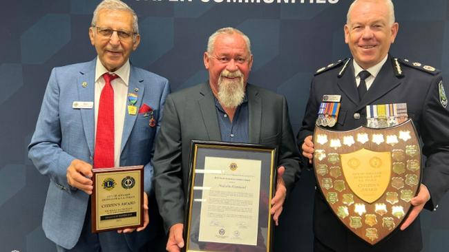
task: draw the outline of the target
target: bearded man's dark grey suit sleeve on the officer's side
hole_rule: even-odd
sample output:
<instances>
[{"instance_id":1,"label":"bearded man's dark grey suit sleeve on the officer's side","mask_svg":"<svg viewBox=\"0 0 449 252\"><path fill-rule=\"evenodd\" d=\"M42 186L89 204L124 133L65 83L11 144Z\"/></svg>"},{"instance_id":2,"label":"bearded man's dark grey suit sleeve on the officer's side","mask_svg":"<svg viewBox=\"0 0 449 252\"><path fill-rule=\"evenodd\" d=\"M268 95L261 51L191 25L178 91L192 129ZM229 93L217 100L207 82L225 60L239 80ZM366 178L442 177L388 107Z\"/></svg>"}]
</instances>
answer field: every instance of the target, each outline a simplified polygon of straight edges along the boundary
<instances>
[{"instance_id":1,"label":"bearded man's dark grey suit sleeve on the officer's side","mask_svg":"<svg viewBox=\"0 0 449 252\"><path fill-rule=\"evenodd\" d=\"M292 131L292 125L290 124L289 112L287 100L283 97L283 132L282 132L282 143L279 149L279 166L283 165L285 167L285 173L283 175L283 180L285 182L285 187L287 187L287 192L292 191L294 183L299 179L300 176L300 160L298 149L296 148L296 140Z\"/></svg>"}]
</instances>

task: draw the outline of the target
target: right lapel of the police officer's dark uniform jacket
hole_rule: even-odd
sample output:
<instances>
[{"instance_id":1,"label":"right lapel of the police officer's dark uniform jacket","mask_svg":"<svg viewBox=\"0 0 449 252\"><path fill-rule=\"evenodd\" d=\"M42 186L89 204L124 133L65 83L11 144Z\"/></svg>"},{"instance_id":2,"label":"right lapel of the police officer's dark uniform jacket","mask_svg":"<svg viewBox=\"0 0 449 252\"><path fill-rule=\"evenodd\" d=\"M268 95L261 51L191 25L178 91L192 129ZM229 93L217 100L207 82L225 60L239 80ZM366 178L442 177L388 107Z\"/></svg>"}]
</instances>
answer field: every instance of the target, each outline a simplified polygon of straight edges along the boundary
<instances>
[{"instance_id":1,"label":"right lapel of the police officer's dark uniform jacket","mask_svg":"<svg viewBox=\"0 0 449 252\"><path fill-rule=\"evenodd\" d=\"M392 82L392 80L394 80ZM393 68L391 65L390 56L388 56L387 61L383 64L381 71L377 74L374 82L372 83L369 90L367 90L365 96L361 103L357 106L356 110L362 109L366 105L371 104L376 101L378 98L390 92L390 90L394 89L401 84L401 80L398 79L393 72Z\"/></svg>"}]
</instances>

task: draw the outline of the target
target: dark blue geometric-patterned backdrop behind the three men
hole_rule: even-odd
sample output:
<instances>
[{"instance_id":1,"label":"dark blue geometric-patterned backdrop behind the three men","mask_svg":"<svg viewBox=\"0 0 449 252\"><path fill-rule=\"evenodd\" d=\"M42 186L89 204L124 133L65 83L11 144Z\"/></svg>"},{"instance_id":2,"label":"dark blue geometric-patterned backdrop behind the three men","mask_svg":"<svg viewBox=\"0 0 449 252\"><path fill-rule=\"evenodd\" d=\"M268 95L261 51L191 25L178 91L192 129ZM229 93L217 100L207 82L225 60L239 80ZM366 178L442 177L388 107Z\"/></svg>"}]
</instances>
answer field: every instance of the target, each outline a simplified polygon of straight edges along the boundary
<instances>
[{"instance_id":1,"label":"dark blue geometric-patterned backdrop behind the three men","mask_svg":"<svg viewBox=\"0 0 449 252\"><path fill-rule=\"evenodd\" d=\"M0 250L55 251L41 229L48 178L27 158L52 67L90 61L92 12L99 1L2 0L0 8ZM249 81L285 94L295 132L313 73L349 55L343 24L347 0L126 0L139 16L142 43L134 65L169 78L172 90L207 79L208 36L225 26L248 34ZM394 1L399 35L394 56L433 65L449 80L449 3ZM449 125L448 125L449 127ZM311 171L304 171L276 229L277 251L312 251ZM421 214L423 251L449 246L449 198Z\"/></svg>"}]
</instances>

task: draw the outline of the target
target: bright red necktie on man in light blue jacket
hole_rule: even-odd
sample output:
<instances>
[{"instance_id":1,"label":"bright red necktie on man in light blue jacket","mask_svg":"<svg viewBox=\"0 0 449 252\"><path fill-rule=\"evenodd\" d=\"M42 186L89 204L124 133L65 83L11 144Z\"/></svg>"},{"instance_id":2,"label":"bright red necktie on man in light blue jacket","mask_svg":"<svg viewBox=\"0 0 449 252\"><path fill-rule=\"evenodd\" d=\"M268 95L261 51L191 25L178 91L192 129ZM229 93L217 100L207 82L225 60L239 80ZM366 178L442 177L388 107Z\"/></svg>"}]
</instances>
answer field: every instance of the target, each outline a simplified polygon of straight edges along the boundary
<instances>
[{"instance_id":1,"label":"bright red necktie on man in light blue jacket","mask_svg":"<svg viewBox=\"0 0 449 252\"><path fill-rule=\"evenodd\" d=\"M118 76L106 73L103 78L105 84L99 96L94 168L114 167L114 90L111 81Z\"/></svg>"}]
</instances>

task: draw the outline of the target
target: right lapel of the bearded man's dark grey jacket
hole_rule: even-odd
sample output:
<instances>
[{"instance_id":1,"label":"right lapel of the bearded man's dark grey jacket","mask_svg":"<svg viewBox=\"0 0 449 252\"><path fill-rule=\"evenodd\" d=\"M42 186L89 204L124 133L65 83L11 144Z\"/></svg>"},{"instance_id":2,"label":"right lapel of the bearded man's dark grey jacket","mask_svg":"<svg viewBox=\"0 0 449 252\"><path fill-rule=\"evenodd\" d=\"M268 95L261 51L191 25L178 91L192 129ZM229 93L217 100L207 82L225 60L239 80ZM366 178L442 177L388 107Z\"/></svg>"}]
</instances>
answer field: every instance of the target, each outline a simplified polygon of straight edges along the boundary
<instances>
[{"instance_id":1,"label":"right lapel of the bearded man's dark grey jacket","mask_svg":"<svg viewBox=\"0 0 449 252\"><path fill-rule=\"evenodd\" d=\"M259 143L262 125L262 102L258 90L248 84L249 143Z\"/></svg>"}]
</instances>

